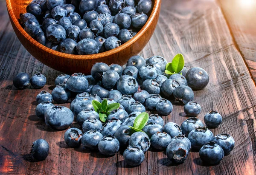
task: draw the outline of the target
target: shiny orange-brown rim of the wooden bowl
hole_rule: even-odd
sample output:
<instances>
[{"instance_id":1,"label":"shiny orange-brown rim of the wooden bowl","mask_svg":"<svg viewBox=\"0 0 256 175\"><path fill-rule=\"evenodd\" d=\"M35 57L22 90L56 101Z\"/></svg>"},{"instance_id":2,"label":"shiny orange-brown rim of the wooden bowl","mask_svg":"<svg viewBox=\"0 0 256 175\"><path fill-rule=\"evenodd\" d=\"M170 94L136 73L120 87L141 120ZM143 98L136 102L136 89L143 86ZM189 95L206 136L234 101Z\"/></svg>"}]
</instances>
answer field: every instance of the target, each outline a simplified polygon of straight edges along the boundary
<instances>
[{"instance_id":1,"label":"shiny orange-brown rim of the wooden bowl","mask_svg":"<svg viewBox=\"0 0 256 175\"><path fill-rule=\"evenodd\" d=\"M32 42L32 44L35 45L36 47L40 48L41 50L46 51L48 54L65 57L67 59L90 59L91 60L91 59L100 59L102 57L108 57L113 54L117 54L119 51L122 51L123 49L131 46L134 42L139 40L139 38L142 37L143 34L145 34L145 32L147 31L149 26L154 22L154 18L157 16L157 11L160 10L159 8L160 8L161 0L152 0L152 1L154 1L154 7L152 9L150 16L148 17L147 22L145 23L143 28L141 28L140 31L134 37L132 37L131 40L129 40L128 42L125 42L125 44L122 44L119 47L114 48L110 51L105 51L105 52L102 52L99 54L91 54L91 55L65 54L65 53L62 53L59 51L52 50L52 49L47 48L46 46L40 44L39 42L34 40L29 34L27 34L26 31L21 27L20 23L16 19L15 14L12 10L12 5L11 5L10 0L6 0L6 6L7 6L9 16L10 16L11 20L13 21L13 23L15 24L15 26L17 27L17 29L27 40L29 40L29 42Z\"/></svg>"}]
</instances>

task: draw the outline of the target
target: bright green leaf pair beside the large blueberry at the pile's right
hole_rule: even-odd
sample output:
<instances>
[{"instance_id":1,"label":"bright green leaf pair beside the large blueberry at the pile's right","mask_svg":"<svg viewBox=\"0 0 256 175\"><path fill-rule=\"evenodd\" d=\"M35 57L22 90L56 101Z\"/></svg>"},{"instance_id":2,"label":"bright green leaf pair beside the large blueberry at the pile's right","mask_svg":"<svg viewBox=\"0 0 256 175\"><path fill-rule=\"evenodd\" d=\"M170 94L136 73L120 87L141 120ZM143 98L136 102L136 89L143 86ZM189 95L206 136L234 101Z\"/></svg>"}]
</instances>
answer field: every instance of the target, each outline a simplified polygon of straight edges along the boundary
<instances>
[{"instance_id":1,"label":"bright green leaf pair beside the large blueberry at the pile's right","mask_svg":"<svg viewBox=\"0 0 256 175\"><path fill-rule=\"evenodd\" d=\"M182 54L177 54L172 59L172 63L167 63L165 73L172 75L174 73L179 73L184 67L184 58Z\"/></svg>"}]
</instances>

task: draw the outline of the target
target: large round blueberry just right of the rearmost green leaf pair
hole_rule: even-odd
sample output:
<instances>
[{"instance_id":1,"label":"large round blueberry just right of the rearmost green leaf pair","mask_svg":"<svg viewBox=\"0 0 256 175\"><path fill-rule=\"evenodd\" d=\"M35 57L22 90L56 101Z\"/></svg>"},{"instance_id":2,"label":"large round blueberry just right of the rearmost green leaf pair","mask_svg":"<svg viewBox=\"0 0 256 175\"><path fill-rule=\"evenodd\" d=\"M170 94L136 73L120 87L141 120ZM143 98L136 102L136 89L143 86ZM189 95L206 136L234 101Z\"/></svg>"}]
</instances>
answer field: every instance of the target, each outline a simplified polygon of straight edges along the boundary
<instances>
[{"instance_id":1,"label":"large round blueberry just right of the rearmost green leaf pair","mask_svg":"<svg viewBox=\"0 0 256 175\"><path fill-rule=\"evenodd\" d=\"M207 86L209 75L202 68L191 68L186 73L186 80L190 88L200 90Z\"/></svg>"}]
</instances>

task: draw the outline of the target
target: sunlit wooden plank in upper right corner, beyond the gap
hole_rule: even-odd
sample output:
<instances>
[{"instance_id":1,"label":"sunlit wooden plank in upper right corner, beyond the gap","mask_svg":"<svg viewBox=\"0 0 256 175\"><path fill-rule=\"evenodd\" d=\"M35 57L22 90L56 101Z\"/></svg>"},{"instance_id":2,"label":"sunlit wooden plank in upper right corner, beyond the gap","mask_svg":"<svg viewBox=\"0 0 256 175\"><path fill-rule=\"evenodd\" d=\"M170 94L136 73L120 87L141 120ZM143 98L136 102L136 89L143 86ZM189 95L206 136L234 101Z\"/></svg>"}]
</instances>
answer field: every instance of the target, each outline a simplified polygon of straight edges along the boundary
<instances>
[{"instance_id":1,"label":"sunlit wooden plank in upper right corner, beyond the gap","mask_svg":"<svg viewBox=\"0 0 256 175\"><path fill-rule=\"evenodd\" d=\"M256 1L218 0L237 48L256 81Z\"/></svg>"}]
</instances>

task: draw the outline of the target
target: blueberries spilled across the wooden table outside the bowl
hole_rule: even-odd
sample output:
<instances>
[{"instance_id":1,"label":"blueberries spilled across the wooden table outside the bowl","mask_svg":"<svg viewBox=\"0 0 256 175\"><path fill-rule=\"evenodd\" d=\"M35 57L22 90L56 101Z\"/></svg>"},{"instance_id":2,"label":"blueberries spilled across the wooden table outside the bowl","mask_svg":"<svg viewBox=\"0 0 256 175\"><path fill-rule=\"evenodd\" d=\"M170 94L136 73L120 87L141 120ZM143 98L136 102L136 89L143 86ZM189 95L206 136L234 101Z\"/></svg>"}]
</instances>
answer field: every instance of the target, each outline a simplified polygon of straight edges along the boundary
<instances>
[{"instance_id":1,"label":"blueberries spilled across the wooden table outside the bowl","mask_svg":"<svg viewBox=\"0 0 256 175\"><path fill-rule=\"evenodd\" d=\"M192 148L199 150L204 162L217 164L233 150L235 141L229 134L214 136L208 129L221 124L222 116L218 112L212 110L207 113L204 116L205 124L197 118L201 106L193 101L192 89L200 90L207 86L207 72L202 68L187 71L183 67L180 72L182 75L167 75L163 73L166 64L166 59L161 56L152 56L146 60L141 56L132 56L124 69L120 65L108 66L99 62L93 65L91 75L61 74L55 79L56 87L52 94L41 91L36 97L39 103L36 115L55 130L67 129L76 117L83 132L75 127L68 129L64 134L68 146L79 147L82 144L86 149L99 150L107 156L116 154L119 148L127 147L123 157L126 164L131 166L143 162L144 153L150 146L166 150L172 162L185 161ZM13 80L17 88L29 83L26 81L29 76L26 79L21 75L27 74L19 73ZM37 82L41 82L39 78ZM71 96L75 99L70 109L52 104L53 101L65 103ZM168 99L173 97L184 105L184 112L189 116L180 126L174 122L164 124L161 117L172 112L172 103ZM108 105L119 104L106 116L105 121L93 105L97 102L103 106L103 101L107 101ZM99 111L102 112L102 109ZM148 116L146 109L156 110L158 114ZM145 114L145 125L134 129L136 120ZM39 139L34 142L34 158L43 160L48 151L46 141Z\"/></svg>"}]
</instances>

